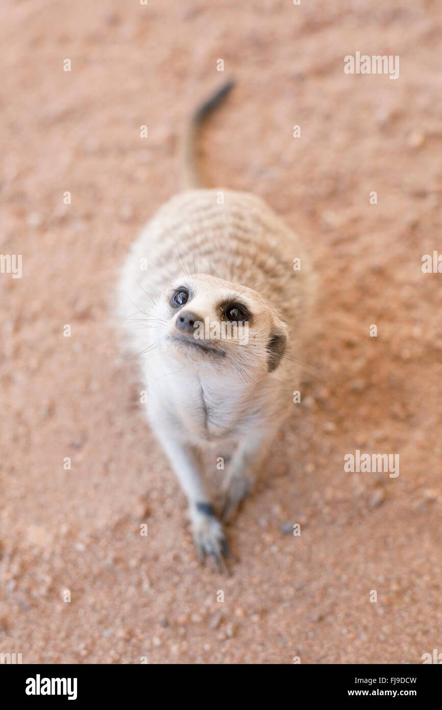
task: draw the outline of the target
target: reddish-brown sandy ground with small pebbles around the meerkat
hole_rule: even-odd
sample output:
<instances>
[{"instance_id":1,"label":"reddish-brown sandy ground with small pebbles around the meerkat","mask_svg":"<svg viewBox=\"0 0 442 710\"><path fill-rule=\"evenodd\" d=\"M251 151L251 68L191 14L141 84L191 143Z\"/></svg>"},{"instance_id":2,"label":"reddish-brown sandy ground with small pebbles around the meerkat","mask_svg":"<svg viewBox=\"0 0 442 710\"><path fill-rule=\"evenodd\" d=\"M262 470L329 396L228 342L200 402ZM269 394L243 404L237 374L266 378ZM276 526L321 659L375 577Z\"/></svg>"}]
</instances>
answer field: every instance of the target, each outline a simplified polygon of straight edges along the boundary
<instances>
[{"instance_id":1,"label":"reddish-brown sandy ground with small pebbles around the meerkat","mask_svg":"<svg viewBox=\"0 0 442 710\"><path fill-rule=\"evenodd\" d=\"M441 29L436 1L4 1L0 251L23 255L23 275L0 274L0 652L419 663L442 650L442 275L421 271L442 251ZM399 55L399 80L344 74L357 50ZM184 118L228 73L206 171L282 214L321 290L316 369L228 530L224 577L197 562L111 304L128 245L177 189ZM399 454L399 476L345 473L355 449Z\"/></svg>"}]
</instances>

